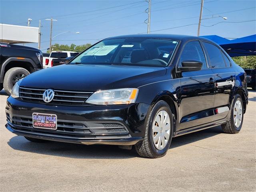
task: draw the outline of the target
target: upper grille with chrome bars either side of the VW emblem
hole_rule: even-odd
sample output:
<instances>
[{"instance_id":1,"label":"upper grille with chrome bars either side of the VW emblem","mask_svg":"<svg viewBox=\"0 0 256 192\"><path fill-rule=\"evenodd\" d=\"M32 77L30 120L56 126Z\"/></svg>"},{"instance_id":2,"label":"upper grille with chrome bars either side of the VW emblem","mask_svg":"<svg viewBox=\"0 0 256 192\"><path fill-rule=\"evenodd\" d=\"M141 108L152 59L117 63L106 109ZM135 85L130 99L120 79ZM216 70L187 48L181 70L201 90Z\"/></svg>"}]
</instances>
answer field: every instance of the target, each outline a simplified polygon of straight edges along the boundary
<instances>
[{"instance_id":1,"label":"upper grille with chrome bars either side of the VW emblem","mask_svg":"<svg viewBox=\"0 0 256 192\"><path fill-rule=\"evenodd\" d=\"M43 93L45 89L25 88L20 87L20 98L27 102L45 103L43 100ZM64 105L84 105L86 99L93 92L76 92L54 90L54 98L49 104L64 104Z\"/></svg>"}]
</instances>

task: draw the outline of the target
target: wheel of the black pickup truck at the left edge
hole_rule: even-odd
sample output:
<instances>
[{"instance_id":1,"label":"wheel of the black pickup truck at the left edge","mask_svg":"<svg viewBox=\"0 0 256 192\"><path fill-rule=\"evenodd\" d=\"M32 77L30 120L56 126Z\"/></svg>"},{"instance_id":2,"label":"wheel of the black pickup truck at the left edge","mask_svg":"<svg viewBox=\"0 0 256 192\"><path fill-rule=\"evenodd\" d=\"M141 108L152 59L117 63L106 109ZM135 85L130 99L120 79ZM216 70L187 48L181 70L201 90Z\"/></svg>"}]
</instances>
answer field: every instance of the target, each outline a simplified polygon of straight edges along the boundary
<instances>
[{"instance_id":1,"label":"wheel of the black pickup truck at the left edge","mask_svg":"<svg viewBox=\"0 0 256 192\"><path fill-rule=\"evenodd\" d=\"M28 70L21 67L9 69L4 76L4 90L6 93L10 95L14 84L29 74Z\"/></svg>"}]
</instances>

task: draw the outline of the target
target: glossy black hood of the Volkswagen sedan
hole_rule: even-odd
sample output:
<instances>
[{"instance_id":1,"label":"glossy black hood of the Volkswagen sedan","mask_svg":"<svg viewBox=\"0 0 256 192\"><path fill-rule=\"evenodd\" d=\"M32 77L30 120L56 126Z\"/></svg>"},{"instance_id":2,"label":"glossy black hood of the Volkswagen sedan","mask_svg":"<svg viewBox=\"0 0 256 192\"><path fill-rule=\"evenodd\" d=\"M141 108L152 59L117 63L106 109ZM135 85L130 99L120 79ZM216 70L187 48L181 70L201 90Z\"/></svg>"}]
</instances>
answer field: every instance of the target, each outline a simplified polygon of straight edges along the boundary
<instances>
[{"instance_id":1,"label":"glossy black hood of the Volkswagen sedan","mask_svg":"<svg viewBox=\"0 0 256 192\"><path fill-rule=\"evenodd\" d=\"M165 73L164 67L64 64L34 72L24 78L20 86L95 91L127 88Z\"/></svg>"}]
</instances>

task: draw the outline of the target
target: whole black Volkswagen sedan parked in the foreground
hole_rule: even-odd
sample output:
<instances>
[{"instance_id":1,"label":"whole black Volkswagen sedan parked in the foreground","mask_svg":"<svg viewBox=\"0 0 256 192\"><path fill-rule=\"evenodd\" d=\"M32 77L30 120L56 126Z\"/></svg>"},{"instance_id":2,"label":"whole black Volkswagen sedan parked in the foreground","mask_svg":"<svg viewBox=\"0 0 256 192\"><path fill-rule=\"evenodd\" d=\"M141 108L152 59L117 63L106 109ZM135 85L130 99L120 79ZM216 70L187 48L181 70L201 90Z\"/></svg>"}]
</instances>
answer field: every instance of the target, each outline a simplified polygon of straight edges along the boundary
<instances>
[{"instance_id":1,"label":"whole black Volkswagen sedan parked in the foreground","mask_svg":"<svg viewBox=\"0 0 256 192\"><path fill-rule=\"evenodd\" d=\"M164 156L173 137L241 130L246 74L214 42L167 34L102 40L16 83L6 128L32 142L110 144Z\"/></svg>"}]
</instances>

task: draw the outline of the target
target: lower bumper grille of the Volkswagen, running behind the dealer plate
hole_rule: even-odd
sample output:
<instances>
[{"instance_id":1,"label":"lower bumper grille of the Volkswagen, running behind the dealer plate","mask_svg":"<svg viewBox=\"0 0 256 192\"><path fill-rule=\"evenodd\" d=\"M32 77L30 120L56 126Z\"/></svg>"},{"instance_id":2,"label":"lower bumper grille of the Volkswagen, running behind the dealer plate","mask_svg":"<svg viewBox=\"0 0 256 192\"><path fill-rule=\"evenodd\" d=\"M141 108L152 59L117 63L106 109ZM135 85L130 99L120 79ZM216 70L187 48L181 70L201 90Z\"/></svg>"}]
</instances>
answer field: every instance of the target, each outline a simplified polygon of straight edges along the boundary
<instances>
[{"instance_id":1,"label":"lower bumper grille of the Volkswagen, running behind the dealer plate","mask_svg":"<svg viewBox=\"0 0 256 192\"><path fill-rule=\"evenodd\" d=\"M47 130L33 127L32 116L15 115L6 113L8 123L14 130L37 134L52 134L70 138L97 138L99 136L128 135L128 130L119 123L90 123L57 119L57 130ZM113 126L115 125L115 126Z\"/></svg>"}]
</instances>

